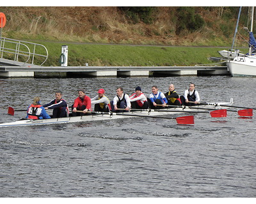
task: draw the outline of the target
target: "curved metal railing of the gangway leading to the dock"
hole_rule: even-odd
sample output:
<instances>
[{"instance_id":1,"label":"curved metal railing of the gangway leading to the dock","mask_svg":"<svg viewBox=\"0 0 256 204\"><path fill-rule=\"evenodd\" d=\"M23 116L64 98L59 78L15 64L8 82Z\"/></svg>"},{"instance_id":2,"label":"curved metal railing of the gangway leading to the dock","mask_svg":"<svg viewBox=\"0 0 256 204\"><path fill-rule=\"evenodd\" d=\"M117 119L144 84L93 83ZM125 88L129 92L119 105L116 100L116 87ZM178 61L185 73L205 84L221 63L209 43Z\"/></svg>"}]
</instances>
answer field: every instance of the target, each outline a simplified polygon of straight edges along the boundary
<instances>
[{"instance_id":1,"label":"curved metal railing of the gangway leading to the dock","mask_svg":"<svg viewBox=\"0 0 256 204\"><path fill-rule=\"evenodd\" d=\"M36 63L42 66L47 61L48 50L44 45L38 43L0 38L0 58L11 59L14 64L20 61L24 64L27 62L34 64L36 59Z\"/></svg>"}]
</instances>

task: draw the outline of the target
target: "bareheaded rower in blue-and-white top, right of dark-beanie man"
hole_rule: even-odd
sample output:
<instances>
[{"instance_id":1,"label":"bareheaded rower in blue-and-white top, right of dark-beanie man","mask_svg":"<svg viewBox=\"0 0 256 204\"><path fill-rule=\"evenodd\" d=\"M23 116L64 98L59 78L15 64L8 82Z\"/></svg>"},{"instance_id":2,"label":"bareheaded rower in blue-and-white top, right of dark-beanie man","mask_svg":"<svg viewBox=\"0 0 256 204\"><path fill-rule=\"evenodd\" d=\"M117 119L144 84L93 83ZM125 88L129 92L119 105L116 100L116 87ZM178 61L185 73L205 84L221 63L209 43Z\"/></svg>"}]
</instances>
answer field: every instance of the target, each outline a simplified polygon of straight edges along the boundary
<instances>
[{"instance_id":1,"label":"bareheaded rower in blue-and-white top, right of dark-beanie man","mask_svg":"<svg viewBox=\"0 0 256 204\"><path fill-rule=\"evenodd\" d=\"M164 96L163 92L159 92L156 85L152 86L152 93L149 95L150 100L150 108L152 109L159 109L159 108L165 108L166 103L168 103L166 97ZM157 106L157 105L162 105Z\"/></svg>"}]
</instances>

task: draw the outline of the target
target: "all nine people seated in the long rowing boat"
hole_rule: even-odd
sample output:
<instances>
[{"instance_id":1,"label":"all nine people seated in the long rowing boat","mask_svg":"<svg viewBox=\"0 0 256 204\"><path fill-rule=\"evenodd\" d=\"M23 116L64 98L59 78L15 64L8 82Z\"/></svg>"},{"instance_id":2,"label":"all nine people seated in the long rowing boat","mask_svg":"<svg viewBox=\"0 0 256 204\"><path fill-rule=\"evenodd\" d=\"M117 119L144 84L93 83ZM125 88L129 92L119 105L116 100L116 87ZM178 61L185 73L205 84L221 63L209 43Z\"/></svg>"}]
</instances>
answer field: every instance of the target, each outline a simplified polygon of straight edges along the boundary
<instances>
[{"instance_id":1,"label":"all nine people seated in the long rowing boat","mask_svg":"<svg viewBox=\"0 0 256 204\"><path fill-rule=\"evenodd\" d=\"M198 91L195 90L195 84L191 83L189 89L184 92L184 96L180 96L175 91L173 84L169 85L169 91L163 94L159 92L156 85L152 86L152 93L149 98L143 94L141 87L136 87L135 92L129 96L124 93L122 87L116 89L116 96L113 101L104 95L104 89L99 89L98 95L94 98L86 96L84 89L79 89L78 97L74 100L72 105L72 115L90 115L92 105L94 105L95 112L127 112L131 108L134 109L159 109L165 108L166 105L196 105L200 101ZM189 103L193 101L194 103ZM40 105L40 98L36 96L33 103L28 106L28 119L49 119L51 118L45 110L53 109L52 118L68 117L69 110L65 99L62 98L62 92L55 92L55 99L50 103Z\"/></svg>"}]
</instances>

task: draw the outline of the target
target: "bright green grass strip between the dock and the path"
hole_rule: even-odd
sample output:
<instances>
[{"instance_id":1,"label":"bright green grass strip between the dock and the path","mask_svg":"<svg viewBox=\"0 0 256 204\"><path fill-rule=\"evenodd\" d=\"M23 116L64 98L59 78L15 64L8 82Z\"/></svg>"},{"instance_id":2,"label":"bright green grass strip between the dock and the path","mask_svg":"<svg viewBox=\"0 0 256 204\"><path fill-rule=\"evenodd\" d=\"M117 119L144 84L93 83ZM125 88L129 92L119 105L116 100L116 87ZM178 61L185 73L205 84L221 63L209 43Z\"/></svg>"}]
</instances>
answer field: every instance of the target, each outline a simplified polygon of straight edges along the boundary
<instances>
[{"instance_id":1,"label":"bright green grass strip between the dock and the path","mask_svg":"<svg viewBox=\"0 0 256 204\"><path fill-rule=\"evenodd\" d=\"M218 47L159 47L41 42L49 58L44 66L60 66L61 45L68 45L68 66L195 66L220 57Z\"/></svg>"}]
</instances>

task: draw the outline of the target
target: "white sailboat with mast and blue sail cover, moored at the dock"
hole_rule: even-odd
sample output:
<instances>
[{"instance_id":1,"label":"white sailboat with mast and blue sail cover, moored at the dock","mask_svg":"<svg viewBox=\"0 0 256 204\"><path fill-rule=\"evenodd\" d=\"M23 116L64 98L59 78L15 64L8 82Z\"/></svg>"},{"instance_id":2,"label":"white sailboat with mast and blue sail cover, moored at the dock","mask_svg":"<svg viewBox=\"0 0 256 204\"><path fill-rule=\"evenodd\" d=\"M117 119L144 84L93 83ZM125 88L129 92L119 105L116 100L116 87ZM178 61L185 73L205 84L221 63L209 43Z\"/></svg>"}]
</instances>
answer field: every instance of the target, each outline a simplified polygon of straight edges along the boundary
<instances>
[{"instance_id":1,"label":"white sailboat with mast and blue sail cover, moored at the dock","mask_svg":"<svg viewBox=\"0 0 256 204\"><path fill-rule=\"evenodd\" d=\"M229 61L227 61L228 71L230 71L230 74L232 75L232 77L256 77L256 41L252 33L253 11L254 11L254 7L252 7L252 22L251 22L251 30L249 32L250 40L249 40L248 54L239 55L239 52L235 52L234 59L233 60L230 59ZM236 32L237 32L237 28L236 28Z\"/></svg>"}]
</instances>

